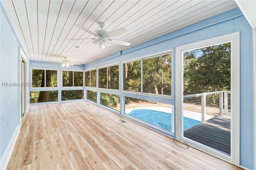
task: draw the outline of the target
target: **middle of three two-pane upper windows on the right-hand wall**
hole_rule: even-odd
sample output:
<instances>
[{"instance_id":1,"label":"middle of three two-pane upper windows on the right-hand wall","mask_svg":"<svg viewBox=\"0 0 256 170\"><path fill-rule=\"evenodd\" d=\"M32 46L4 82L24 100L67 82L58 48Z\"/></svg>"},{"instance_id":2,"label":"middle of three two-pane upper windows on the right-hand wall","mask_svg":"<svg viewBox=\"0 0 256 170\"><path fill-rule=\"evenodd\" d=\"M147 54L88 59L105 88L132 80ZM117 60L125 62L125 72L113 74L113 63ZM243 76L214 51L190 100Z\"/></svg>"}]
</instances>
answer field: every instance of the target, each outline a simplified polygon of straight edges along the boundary
<instances>
[{"instance_id":1,"label":"middle of three two-pane upper windows on the right-hand wall","mask_svg":"<svg viewBox=\"0 0 256 170\"><path fill-rule=\"evenodd\" d=\"M119 65L99 69L99 88L119 89Z\"/></svg>"}]
</instances>

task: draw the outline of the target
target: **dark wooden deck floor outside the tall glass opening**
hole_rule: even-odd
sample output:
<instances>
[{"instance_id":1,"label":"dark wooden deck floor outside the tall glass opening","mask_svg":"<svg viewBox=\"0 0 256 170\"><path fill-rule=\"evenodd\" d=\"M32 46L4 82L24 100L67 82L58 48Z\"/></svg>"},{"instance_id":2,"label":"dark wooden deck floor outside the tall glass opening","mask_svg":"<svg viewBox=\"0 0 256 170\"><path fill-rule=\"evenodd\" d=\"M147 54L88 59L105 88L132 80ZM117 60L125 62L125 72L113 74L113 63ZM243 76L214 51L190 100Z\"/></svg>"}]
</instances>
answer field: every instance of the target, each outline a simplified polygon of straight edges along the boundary
<instances>
[{"instance_id":1,"label":"dark wooden deck floor outside the tall glass opening","mask_svg":"<svg viewBox=\"0 0 256 170\"><path fill-rule=\"evenodd\" d=\"M230 115L218 115L191 127L184 137L230 154Z\"/></svg>"}]
</instances>

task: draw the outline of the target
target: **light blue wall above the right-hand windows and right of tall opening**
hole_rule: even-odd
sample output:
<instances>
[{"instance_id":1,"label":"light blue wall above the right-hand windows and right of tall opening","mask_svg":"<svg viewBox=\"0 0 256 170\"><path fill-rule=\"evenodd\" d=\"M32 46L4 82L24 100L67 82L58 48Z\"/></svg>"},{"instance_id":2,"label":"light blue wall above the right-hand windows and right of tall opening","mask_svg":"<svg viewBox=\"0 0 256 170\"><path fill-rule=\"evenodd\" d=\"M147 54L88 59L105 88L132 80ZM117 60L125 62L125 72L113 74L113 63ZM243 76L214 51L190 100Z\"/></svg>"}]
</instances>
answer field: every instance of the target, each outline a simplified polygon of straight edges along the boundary
<instances>
[{"instance_id":1,"label":"light blue wall above the right-hand windows and right of tall opening","mask_svg":"<svg viewBox=\"0 0 256 170\"><path fill-rule=\"evenodd\" d=\"M126 49L122 55L116 53L86 64L85 70L168 49L175 51L181 45L237 31L240 31L240 165L254 169L252 29L239 8Z\"/></svg>"}]
</instances>

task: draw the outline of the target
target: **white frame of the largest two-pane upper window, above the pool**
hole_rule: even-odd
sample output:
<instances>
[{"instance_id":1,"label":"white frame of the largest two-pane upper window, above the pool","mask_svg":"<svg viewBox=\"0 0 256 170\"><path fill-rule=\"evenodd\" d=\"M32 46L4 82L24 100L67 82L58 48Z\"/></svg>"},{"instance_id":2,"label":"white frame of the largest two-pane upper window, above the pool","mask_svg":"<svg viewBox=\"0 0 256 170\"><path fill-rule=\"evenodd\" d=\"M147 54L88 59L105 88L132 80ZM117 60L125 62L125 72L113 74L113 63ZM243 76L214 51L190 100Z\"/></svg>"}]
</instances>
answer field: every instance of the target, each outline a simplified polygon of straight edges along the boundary
<instances>
[{"instance_id":1,"label":"white frame of the largest two-pane upper window, above the pool","mask_svg":"<svg viewBox=\"0 0 256 170\"><path fill-rule=\"evenodd\" d=\"M161 55L168 55L168 54L171 54L172 56L172 59L171 59L171 81L172 81L172 84L171 84L171 95L166 95L166 94L152 94L152 93L146 93L146 92L143 92L143 60L144 59L150 59L150 58L154 58L154 57L159 57ZM173 55L173 49L169 49L169 50L166 50L166 51L161 51L161 52L158 52L158 53L154 53L154 54L150 54L150 55L144 55L142 57L137 57L137 58L134 58L134 59L130 59L130 60L126 60L126 61L122 61L122 92L123 93L131 93L131 94L140 94L140 95L143 95L143 96L151 96L151 97L157 97L157 98L168 98L168 99L174 99L174 95L173 95L173 92L174 92L174 55ZM141 82L141 90L140 92L133 92L133 91L128 91L128 90L124 90L124 64L125 63L129 63L129 62L132 62L132 61L141 61L141 79L140 79L140 82Z\"/></svg>"}]
</instances>

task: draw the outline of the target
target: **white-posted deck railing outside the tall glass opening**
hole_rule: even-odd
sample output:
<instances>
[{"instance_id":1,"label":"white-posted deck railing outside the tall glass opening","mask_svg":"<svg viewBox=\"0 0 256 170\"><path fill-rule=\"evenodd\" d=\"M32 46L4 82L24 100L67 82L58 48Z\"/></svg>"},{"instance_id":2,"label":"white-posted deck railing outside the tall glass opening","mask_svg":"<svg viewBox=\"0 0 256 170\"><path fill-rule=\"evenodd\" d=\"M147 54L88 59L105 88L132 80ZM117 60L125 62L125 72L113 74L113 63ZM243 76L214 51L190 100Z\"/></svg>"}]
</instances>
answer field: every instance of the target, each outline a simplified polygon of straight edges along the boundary
<instances>
[{"instance_id":1,"label":"white-posted deck railing outside the tall glass opening","mask_svg":"<svg viewBox=\"0 0 256 170\"><path fill-rule=\"evenodd\" d=\"M202 113L202 122L206 114L230 114L230 91L208 92L184 96L184 110Z\"/></svg>"}]
</instances>

